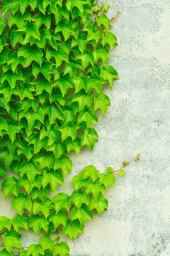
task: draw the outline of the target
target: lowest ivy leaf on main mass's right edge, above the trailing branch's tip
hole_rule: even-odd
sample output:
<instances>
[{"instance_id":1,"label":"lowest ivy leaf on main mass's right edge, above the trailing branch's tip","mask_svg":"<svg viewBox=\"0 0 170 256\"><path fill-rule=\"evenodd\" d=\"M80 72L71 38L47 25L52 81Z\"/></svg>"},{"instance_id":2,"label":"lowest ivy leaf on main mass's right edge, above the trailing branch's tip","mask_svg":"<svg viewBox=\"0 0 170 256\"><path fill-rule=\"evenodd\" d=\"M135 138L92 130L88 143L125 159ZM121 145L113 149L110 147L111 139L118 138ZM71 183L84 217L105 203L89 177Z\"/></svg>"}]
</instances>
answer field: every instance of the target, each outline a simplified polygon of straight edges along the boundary
<instances>
[{"instance_id":1,"label":"lowest ivy leaf on main mass's right edge, above the trailing branch's tip","mask_svg":"<svg viewBox=\"0 0 170 256\"><path fill-rule=\"evenodd\" d=\"M91 151L94 149L95 142L98 141L98 134L94 128L87 129L82 132L81 135L81 146L89 146Z\"/></svg>"}]
</instances>

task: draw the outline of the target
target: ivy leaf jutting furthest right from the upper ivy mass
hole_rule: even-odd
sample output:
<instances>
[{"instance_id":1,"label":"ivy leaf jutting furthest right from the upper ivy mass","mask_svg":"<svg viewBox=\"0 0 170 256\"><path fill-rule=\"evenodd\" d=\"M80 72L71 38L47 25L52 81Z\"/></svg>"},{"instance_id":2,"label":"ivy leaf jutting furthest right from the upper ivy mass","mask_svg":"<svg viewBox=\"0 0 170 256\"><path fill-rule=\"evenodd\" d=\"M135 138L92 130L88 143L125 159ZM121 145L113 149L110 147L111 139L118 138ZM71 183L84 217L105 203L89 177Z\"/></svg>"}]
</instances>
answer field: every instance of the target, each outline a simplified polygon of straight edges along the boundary
<instances>
[{"instance_id":1,"label":"ivy leaf jutting furthest right from the upper ivy mass","mask_svg":"<svg viewBox=\"0 0 170 256\"><path fill-rule=\"evenodd\" d=\"M101 68L101 77L108 80L110 88L113 86L114 79L119 79L117 71L111 65Z\"/></svg>"}]
</instances>

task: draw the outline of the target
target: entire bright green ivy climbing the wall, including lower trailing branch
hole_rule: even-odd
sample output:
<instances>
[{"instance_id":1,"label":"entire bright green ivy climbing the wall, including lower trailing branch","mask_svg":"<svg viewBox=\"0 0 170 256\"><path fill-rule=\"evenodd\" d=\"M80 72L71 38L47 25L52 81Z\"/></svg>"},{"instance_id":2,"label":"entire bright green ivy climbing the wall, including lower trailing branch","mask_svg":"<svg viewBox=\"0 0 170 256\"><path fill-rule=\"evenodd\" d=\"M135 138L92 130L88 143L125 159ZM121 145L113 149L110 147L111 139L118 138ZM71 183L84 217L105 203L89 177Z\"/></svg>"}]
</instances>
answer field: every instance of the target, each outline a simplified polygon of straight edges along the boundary
<instances>
[{"instance_id":1,"label":"entire bright green ivy climbing the wall, including lower trailing branch","mask_svg":"<svg viewBox=\"0 0 170 256\"><path fill-rule=\"evenodd\" d=\"M58 233L72 240L83 233L92 211L101 215L108 208L103 194L115 174L123 176L130 164L108 167L106 174L87 166L72 179L72 196L49 198L72 170L67 153L79 154L82 146L93 150L98 141L96 110L106 114L110 105L104 85L119 79L106 65L117 43L109 31L116 16L110 21L103 14L109 6L93 0L5 0L1 6L0 176L10 170L2 188L6 198L13 196L11 207L18 213L12 220L0 217L0 255L13 255L13 248L22 256L69 255ZM45 235L21 247L18 232L28 228Z\"/></svg>"}]
</instances>

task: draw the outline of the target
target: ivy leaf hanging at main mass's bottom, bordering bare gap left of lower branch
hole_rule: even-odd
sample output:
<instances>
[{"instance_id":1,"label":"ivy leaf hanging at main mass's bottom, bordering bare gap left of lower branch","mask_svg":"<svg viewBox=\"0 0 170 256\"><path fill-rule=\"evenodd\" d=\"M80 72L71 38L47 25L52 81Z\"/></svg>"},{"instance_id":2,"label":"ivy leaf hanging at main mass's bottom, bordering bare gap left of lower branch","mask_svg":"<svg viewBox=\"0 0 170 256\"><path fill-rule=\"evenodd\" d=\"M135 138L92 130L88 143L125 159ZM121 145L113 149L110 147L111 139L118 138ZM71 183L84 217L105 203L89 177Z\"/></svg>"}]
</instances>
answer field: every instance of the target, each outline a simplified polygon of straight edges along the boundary
<instances>
[{"instance_id":1,"label":"ivy leaf hanging at main mass's bottom, bordering bare gap left of lower branch","mask_svg":"<svg viewBox=\"0 0 170 256\"><path fill-rule=\"evenodd\" d=\"M46 169L43 172L42 186L45 188L48 183L51 183L52 191L55 192L58 184L63 184L64 182L62 173L60 171L47 171Z\"/></svg>"}]
</instances>

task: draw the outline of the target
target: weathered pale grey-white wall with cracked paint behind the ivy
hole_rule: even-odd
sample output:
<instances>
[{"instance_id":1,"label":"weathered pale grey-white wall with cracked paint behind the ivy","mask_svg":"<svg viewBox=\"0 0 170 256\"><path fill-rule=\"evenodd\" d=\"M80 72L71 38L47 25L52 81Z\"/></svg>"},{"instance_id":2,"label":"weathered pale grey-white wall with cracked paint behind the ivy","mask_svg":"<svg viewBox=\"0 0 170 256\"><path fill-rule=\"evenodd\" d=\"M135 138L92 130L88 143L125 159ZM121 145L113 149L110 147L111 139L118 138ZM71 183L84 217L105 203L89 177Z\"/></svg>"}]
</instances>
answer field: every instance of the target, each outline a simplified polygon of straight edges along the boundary
<instances>
[{"instance_id":1,"label":"weathered pale grey-white wall with cracked paint behind the ivy","mask_svg":"<svg viewBox=\"0 0 170 256\"><path fill-rule=\"evenodd\" d=\"M99 142L94 151L70 154L74 171L59 191L72 193L69 182L80 169L118 168L137 153L141 161L109 188L108 211L86 223L84 235L69 242L72 256L170 255L170 1L108 0L108 16L121 11L113 33L119 46L109 64L120 75L111 91L106 117L98 112ZM0 215L12 217L11 199L0 191ZM37 242L23 233L22 244ZM1 241L0 241L1 242Z\"/></svg>"}]
</instances>

